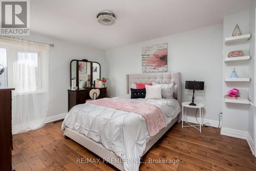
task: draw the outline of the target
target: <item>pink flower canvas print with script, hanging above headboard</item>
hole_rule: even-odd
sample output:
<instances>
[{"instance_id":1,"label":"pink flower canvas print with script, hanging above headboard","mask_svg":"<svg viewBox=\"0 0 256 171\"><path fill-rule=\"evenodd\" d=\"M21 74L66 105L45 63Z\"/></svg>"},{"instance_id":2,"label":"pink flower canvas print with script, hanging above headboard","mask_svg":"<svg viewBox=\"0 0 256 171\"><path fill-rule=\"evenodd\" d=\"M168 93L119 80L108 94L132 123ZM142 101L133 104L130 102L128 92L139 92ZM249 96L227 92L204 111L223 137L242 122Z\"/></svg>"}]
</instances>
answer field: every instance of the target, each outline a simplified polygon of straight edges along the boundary
<instances>
[{"instance_id":1,"label":"pink flower canvas print with script, hanging above headboard","mask_svg":"<svg viewBox=\"0 0 256 171\"><path fill-rule=\"evenodd\" d=\"M167 71L167 43L142 48L142 73Z\"/></svg>"}]
</instances>

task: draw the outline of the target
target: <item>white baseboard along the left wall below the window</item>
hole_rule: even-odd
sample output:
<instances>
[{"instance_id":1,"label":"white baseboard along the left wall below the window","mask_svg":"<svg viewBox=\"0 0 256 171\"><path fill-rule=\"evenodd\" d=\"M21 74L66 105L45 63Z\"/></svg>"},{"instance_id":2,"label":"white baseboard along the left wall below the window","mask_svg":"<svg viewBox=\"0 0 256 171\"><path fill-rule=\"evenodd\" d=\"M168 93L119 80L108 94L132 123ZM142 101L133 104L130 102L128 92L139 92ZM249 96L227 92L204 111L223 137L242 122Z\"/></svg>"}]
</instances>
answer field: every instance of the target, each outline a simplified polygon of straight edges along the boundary
<instances>
[{"instance_id":1,"label":"white baseboard along the left wall below the window","mask_svg":"<svg viewBox=\"0 0 256 171\"><path fill-rule=\"evenodd\" d=\"M26 123L21 123L21 124L17 124L17 125L12 125L12 134L18 134L18 133L22 133L22 132L26 132L26 131L30 131L30 130L24 130L24 127L32 127L33 125L38 125L41 123L49 123L49 122L54 122L60 119L65 118L65 116L67 115L67 113L63 113L63 114L59 114L59 115L54 115L54 116L49 116L45 119L38 119L38 120L33 120L30 122L26 122ZM38 129L39 127L34 127L34 129ZM20 131L23 130L23 131Z\"/></svg>"}]
</instances>

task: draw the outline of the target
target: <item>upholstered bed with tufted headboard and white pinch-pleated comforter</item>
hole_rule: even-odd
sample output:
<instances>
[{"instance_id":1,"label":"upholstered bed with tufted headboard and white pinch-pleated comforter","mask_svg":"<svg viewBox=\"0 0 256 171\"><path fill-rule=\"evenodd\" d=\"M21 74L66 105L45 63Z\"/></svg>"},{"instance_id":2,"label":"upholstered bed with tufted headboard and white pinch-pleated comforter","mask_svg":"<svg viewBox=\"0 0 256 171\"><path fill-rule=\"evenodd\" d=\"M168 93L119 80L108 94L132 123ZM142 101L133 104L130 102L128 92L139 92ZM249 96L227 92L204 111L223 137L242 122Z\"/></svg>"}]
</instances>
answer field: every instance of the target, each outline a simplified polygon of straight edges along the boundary
<instances>
[{"instance_id":1,"label":"upholstered bed with tufted headboard and white pinch-pleated comforter","mask_svg":"<svg viewBox=\"0 0 256 171\"><path fill-rule=\"evenodd\" d=\"M63 121L61 128L66 137L83 145L119 170L138 170L138 162L131 163L124 159L130 159L133 156L136 159L138 156L139 158L142 157L175 122L180 122L181 120L179 114L181 103L180 73L126 75L127 94L129 94L132 82L174 83L175 85L173 99L137 99L138 102L159 104L162 111L164 111L163 113L166 114L165 118L168 117L167 126L161 129L155 136L148 136L143 117L139 114L129 113L127 115L126 113L124 114L124 111L87 103L74 106ZM131 100L127 95L115 98ZM168 108L164 104L167 104ZM111 118L108 118L110 115ZM131 119L126 119L129 117ZM124 119L132 120L132 124L136 119L141 120L141 122L138 122L136 125L132 125L130 122L128 124L126 122L121 123L120 120ZM134 133L129 134L129 131ZM134 141L134 144L129 143L132 141Z\"/></svg>"}]
</instances>

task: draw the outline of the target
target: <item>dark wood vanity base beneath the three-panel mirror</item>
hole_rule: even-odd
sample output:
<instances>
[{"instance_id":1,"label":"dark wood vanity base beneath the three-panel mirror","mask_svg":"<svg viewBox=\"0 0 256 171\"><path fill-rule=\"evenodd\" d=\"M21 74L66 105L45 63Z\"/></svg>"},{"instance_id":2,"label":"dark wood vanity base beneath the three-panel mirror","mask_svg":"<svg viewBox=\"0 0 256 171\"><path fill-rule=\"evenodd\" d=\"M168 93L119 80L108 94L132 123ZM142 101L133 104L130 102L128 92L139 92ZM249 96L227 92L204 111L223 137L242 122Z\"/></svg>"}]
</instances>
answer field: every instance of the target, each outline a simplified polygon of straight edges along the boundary
<instances>
[{"instance_id":1,"label":"dark wood vanity base beneath the three-panel mirror","mask_svg":"<svg viewBox=\"0 0 256 171\"><path fill-rule=\"evenodd\" d=\"M91 99L91 97L89 96L89 93L92 89L99 89L100 94L99 97L97 99L100 98L105 98L106 97L106 89L107 88L91 88L91 87L87 87L84 89L79 89L79 90L68 90L68 110L70 111L71 108L73 108L73 106L77 105L77 104L83 104L86 102L86 100Z\"/></svg>"}]
</instances>

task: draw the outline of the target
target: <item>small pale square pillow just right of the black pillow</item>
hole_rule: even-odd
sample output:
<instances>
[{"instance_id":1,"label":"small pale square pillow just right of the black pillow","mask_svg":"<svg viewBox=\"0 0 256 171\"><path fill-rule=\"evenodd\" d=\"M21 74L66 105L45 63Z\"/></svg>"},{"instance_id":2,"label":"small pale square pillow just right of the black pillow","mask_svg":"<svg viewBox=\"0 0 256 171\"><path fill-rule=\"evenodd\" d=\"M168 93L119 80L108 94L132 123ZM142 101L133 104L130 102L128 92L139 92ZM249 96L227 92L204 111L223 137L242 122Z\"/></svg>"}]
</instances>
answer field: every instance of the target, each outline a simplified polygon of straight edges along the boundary
<instances>
[{"instance_id":1,"label":"small pale square pillow just right of the black pillow","mask_svg":"<svg viewBox=\"0 0 256 171\"><path fill-rule=\"evenodd\" d=\"M161 99L162 98L162 85L157 86L148 86L145 85L146 88L146 97L145 99Z\"/></svg>"}]
</instances>

